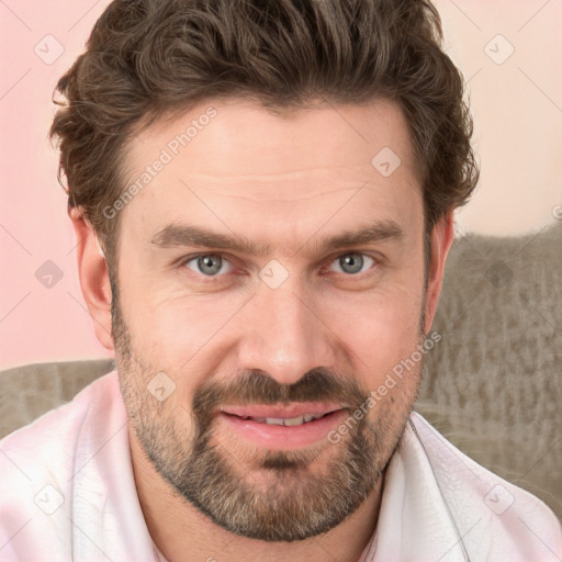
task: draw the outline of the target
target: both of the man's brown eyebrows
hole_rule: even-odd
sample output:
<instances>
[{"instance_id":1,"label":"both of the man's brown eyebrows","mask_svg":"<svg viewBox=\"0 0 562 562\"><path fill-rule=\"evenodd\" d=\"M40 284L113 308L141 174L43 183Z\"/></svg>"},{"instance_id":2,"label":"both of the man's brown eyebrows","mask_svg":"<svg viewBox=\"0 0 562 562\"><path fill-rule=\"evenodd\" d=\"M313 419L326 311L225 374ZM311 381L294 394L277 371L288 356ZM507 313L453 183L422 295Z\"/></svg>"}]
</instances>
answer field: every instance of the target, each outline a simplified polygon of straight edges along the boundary
<instances>
[{"instance_id":1,"label":"both of the man's brown eyebrows","mask_svg":"<svg viewBox=\"0 0 562 562\"><path fill-rule=\"evenodd\" d=\"M397 240L403 236L404 231L396 222L391 220L379 221L355 231L345 231L329 236L319 243L316 241L314 243L314 249L315 251L329 251L361 244L372 244L390 239ZM236 234L225 235L199 226L179 223L169 224L158 231L150 238L150 244L158 248L202 246L250 256L267 256L271 254L271 246L268 244L257 244Z\"/></svg>"}]
</instances>

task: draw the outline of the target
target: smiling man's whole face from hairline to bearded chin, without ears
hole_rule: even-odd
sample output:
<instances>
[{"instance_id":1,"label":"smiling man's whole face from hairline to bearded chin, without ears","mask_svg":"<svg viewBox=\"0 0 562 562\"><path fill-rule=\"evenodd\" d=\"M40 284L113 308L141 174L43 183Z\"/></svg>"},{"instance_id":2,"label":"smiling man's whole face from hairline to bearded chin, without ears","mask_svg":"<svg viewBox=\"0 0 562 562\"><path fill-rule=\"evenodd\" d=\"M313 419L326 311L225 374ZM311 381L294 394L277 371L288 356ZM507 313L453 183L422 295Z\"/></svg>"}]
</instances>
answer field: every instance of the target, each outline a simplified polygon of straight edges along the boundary
<instances>
[{"instance_id":1,"label":"smiling man's whole face from hairline to bearded chin, without ears","mask_svg":"<svg viewBox=\"0 0 562 562\"><path fill-rule=\"evenodd\" d=\"M113 310L133 438L232 532L326 532L380 482L418 386L420 362L368 401L423 340L424 207L402 113L204 103L135 138L130 182L147 166L122 211Z\"/></svg>"}]
</instances>

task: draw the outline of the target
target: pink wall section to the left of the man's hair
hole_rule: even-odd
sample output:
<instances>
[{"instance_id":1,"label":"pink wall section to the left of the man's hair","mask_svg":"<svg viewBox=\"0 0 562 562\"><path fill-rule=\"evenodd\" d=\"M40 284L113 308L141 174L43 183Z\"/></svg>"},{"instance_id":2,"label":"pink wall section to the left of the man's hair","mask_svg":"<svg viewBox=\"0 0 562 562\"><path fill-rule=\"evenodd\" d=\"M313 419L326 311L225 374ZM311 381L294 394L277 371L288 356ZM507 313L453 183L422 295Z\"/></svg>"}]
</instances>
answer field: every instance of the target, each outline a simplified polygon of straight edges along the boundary
<instances>
[{"instance_id":1,"label":"pink wall section to the left of the man's hair","mask_svg":"<svg viewBox=\"0 0 562 562\"><path fill-rule=\"evenodd\" d=\"M47 140L56 81L83 48L106 4L104 0L0 3L2 369L109 356L94 336L80 293L76 241L56 179L57 155ZM64 53L53 60L60 48ZM35 277L46 261L63 274L56 283L53 278L50 288Z\"/></svg>"}]
</instances>

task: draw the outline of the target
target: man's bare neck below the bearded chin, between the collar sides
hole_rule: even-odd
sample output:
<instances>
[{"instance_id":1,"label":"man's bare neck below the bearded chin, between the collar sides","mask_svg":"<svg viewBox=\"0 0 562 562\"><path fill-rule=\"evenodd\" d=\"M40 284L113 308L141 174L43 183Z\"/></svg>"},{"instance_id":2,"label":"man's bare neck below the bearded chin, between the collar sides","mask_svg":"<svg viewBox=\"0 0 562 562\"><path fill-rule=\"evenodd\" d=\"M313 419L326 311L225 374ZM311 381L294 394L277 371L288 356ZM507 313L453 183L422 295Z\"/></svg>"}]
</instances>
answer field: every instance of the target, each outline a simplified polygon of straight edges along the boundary
<instances>
[{"instance_id":1,"label":"man's bare neck below the bearded chin, between the collar sides","mask_svg":"<svg viewBox=\"0 0 562 562\"><path fill-rule=\"evenodd\" d=\"M293 542L267 542L233 535L173 491L146 458L131 428L130 443L143 515L153 541L169 562L357 562L376 527L382 477L353 514L324 535Z\"/></svg>"}]
</instances>

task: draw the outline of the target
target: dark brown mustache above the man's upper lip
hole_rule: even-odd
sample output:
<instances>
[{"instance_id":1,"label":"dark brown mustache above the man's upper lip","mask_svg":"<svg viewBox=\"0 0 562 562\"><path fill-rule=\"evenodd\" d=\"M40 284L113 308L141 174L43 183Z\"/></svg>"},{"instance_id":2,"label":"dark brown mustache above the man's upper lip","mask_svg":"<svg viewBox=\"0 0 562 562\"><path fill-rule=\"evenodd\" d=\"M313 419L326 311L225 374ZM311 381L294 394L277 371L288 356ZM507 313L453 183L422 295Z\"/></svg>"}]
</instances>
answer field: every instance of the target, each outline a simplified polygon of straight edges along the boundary
<instances>
[{"instance_id":1,"label":"dark brown mustache above the man's upper lip","mask_svg":"<svg viewBox=\"0 0 562 562\"><path fill-rule=\"evenodd\" d=\"M268 373L249 370L228 382L203 383L193 394L192 412L204 419L220 405L226 404L289 404L294 402L334 402L347 407L359 407L369 397L351 378L338 376L331 371L315 368L292 384L282 384Z\"/></svg>"}]
</instances>

